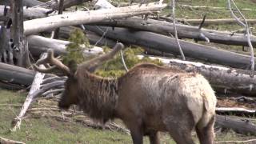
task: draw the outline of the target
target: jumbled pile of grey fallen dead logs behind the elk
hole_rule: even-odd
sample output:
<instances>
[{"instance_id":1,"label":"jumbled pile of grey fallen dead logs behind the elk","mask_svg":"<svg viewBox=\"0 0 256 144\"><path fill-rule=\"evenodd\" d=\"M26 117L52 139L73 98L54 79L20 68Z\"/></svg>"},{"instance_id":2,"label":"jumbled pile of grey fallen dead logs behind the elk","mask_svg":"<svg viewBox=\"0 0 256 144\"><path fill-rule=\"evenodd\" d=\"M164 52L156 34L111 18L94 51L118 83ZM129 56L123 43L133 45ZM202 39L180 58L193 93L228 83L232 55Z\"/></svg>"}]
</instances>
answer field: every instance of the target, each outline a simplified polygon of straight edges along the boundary
<instances>
[{"instance_id":1,"label":"jumbled pile of grey fallen dead logs behind the elk","mask_svg":"<svg viewBox=\"0 0 256 144\"><path fill-rule=\"evenodd\" d=\"M65 0L63 8L75 6L87 2L87 0ZM30 53L34 58L46 52L48 49L54 49L55 54L66 54L66 46L70 42L66 40L58 40L52 38L42 37L42 34L50 34L56 28L60 28L59 37L68 38L70 31L75 28L82 28L86 31L86 36L89 38L91 44L99 46L107 45L114 46L115 42L123 42L127 45L138 45L145 47L148 53L152 54L170 54L174 57L179 57L178 46L174 38L170 35L174 34L174 25L171 22L159 21L153 19L142 19L138 15L152 14L162 10L166 5L161 2L150 3L142 6L126 6L114 8L107 2L96 3L94 8L101 8L101 10L87 10L87 11L69 11L64 10L63 14L58 14L59 9L57 1L38 2L37 0L23 0L24 7L24 34L28 42ZM2 4L0 2L0 4ZM32 7L33 6L33 7ZM110 9L102 9L110 8ZM6 21L6 15L10 14L9 6L0 6L0 21ZM128 18L134 16L133 18ZM137 17L136 17L137 16ZM167 20L173 21L172 19ZM207 22L207 21L206 21ZM209 21L210 22L210 21ZM0 22L1 24L1 22ZM225 45L248 46L245 34L238 34L235 32L224 32L218 30L207 30L198 28L198 26L186 26L178 23L177 25L179 38L192 38L195 41L216 42ZM3 27L3 24L2 24ZM6 47L10 46L6 33L9 31L1 29L0 34L0 53L6 54ZM105 38L102 38L102 37ZM5 40L4 40L5 39ZM252 46L256 46L256 37L250 38ZM200 45L194 42L179 40L182 50L186 58L191 58L196 62L180 61L177 59L158 58L168 66L178 66L182 70L197 71L203 74L214 87L218 94L231 96L246 96L252 97L251 101L255 102L256 96L256 79L255 72L248 70L250 68L250 57L245 54L237 54L227 50L221 50L214 46ZM6 46L6 47L4 47ZM8 49L8 48L7 48ZM102 50L95 47L84 52L88 54L102 53ZM139 56L142 57L142 56ZM155 57L152 57L155 58ZM1 58L4 60L5 58ZM204 65L200 62L207 62L217 64L218 66ZM6 61L7 62L7 61ZM222 66L220 66L222 65ZM35 82L34 76L40 75L26 68L11 66L0 63L0 86L5 86L11 89L20 89L21 86L30 86ZM39 80L42 86L40 90L32 90L28 96L28 101L38 96L49 96L50 94L60 94L63 88L65 78L60 78L54 75L46 75L42 80L42 75ZM33 86L32 86L33 87ZM35 89L39 89L40 85ZM56 89L53 89L56 88ZM26 103L27 104L27 103ZM27 105L26 105L27 106ZM217 111L222 114L226 111L232 111L242 114L254 114L255 110L242 110L220 107ZM25 109L26 112L26 109ZM24 111L16 118L16 123L20 122ZM232 125L225 124L226 119L217 117L219 126L227 126L232 128ZM237 121L231 120L236 123ZM223 124L224 123L224 124ZM247 126L248 125L248 126ZM247 130L238 129L236 131L246 134L251 133L255 129L250 123L246 123ZM15 127L15 126L14 126ZM234 128L232 128L234 129Z\"/></svg>"}]
</instances>

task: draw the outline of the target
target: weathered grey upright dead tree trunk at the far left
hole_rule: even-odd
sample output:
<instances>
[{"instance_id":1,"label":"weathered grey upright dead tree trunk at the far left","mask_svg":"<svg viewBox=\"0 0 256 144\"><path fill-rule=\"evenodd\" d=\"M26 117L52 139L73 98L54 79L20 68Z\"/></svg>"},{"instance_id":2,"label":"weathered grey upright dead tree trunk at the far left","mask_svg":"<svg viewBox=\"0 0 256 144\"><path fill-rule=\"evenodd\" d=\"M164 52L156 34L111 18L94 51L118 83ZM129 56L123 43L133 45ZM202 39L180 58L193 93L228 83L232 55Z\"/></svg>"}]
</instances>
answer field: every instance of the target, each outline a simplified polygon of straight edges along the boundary
<instances>
[{"instance_id":1,"label":"weathered grey upright dead tree trunk at the far left","mask_svg":"<svg viewBox=\"0 0 256 144\"><path fill-rule=\"evenodd\" d=\"M23 33L22 0L10 0L10 13L6 14L5 19L6 22L2 26L0 34L1 60L16 66L28 66L30 60L26 38Z\"/></svg>"}]
</instances>

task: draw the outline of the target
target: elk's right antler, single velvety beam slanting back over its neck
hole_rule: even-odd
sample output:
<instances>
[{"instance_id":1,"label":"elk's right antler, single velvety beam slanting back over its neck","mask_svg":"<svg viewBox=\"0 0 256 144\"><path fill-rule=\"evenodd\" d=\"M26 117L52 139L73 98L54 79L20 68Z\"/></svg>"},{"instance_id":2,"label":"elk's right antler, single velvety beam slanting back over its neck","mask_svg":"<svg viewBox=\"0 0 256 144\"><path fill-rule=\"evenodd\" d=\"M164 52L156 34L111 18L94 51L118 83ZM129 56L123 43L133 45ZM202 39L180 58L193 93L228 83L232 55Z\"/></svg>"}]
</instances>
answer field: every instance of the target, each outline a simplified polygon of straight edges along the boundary
<instances>
[{"instance_id":1,"label":"elk's right antler, single velvety beam slanting back over its neck","mask_svg":"<svg viewBox=\"0 0 256 144\"><path fill-rule=\"evenodd\" d=\"M94 71L98 66L100 66L103 62L106 62L107 60L110 60L114 57L115 54L118 53L118 51L122 50L124 48L123 44L121 42L118 42L113 50L110 51L110 53L102 54L101 56L97 58L92 58L91 60L87 62L83 62L79 68L90 71Z\"/></svg>"}]
</instances>

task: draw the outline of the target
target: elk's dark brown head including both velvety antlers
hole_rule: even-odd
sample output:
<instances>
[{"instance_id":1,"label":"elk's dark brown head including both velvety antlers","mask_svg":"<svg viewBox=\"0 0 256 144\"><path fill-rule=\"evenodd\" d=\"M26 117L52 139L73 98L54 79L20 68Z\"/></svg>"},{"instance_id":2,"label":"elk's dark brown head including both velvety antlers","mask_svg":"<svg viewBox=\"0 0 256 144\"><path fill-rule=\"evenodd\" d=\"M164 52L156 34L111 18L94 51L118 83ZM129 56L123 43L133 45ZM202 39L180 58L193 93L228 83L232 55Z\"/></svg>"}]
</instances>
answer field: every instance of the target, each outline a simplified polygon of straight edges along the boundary
<instances>
[{"instance_id":1,"label":"elk's dark brown head including both velvety antlers","mask_svg":"<svg viewBox=\"0 0 256 144\"><path fill-rule=\"evenodd\" d=\"M110 53L102 54L97 58L92 58L89 61L82 62L82 64L79 65L77 65L74 61L70 61L68 66L65 66L60 60L58 60L58 58L54 58L53 50L48 50L47 57L36 62L34 65L34 70L42 73L50 73L55 68L58 68L67 75L68 78L65 82L65 90L61 100L58 102L58 106L62 109L68 109L72 104L78 104L78 81L81 79L78 78L77 71L82 70L83 73L94 72L98 66L101 66L103 62L113 58L119 50L122 50L123 47L124 46L122 43L118 42ZM53 66L47 66L48 68L46 69L41 69L38 67L38 65L46 63Z\"/></svg>"}]
</instances>

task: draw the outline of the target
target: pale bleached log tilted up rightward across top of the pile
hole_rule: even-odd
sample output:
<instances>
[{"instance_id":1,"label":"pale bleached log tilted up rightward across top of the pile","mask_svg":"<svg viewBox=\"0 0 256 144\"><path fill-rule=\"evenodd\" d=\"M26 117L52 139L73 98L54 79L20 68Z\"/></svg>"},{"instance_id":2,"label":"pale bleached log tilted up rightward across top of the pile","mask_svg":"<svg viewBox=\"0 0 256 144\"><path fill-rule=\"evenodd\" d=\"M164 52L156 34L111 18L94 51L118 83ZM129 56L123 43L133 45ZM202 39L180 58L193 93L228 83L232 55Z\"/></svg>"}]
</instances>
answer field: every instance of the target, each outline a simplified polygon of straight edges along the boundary
<instances>
[{"instance_id":1,"label":"pale bleached log tilted up rightward across top of the pile","mask_svg":"<svg viewBox=\"0 0 256 144\"><path fill-rule=\"evenodd\" d=\"M127 18L140 14L151 14L166 7L166 4L151 2L147 5L126 6L109 10L76 11L70 14L58 14L47 18L38 18L24 22L26 35L53 30L62 26L75 26L104 19Z\"/></svg>"}]
</instances>

